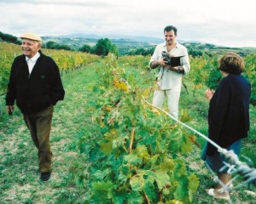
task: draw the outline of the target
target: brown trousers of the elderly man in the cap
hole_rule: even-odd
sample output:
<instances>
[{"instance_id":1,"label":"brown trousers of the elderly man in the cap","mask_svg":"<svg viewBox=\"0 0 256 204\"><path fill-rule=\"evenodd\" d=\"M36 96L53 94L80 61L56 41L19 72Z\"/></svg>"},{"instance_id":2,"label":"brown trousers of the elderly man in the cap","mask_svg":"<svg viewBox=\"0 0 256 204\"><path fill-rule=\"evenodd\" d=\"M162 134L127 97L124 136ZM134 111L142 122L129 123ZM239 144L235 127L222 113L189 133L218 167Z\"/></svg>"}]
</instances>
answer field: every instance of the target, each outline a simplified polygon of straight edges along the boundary
<instances>
[{"instance_id":1,"label":"brown trousers of the elderly man in the cap","mask_svg":"<svg viewBox=\"0 0 256 204\"><path fill-rule=\"evenodd\" d=\"M51 167L52 152L49 145L49 133L53 110L53 105L50 105L44 111L23 115L33 143L38 149L38 167L41 173L49 172Z\"/></svg>"}]
</instances>

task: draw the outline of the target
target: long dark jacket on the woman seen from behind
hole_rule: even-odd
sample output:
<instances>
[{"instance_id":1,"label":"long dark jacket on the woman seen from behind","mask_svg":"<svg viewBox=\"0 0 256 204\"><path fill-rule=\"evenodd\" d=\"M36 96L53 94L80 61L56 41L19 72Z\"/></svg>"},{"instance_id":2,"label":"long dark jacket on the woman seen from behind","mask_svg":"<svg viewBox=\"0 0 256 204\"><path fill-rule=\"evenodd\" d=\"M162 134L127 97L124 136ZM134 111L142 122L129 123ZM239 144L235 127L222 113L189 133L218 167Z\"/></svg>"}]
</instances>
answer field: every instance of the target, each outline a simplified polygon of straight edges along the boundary
<instances>
[{"instance_id":1,"label":"long dark jacket on the woman seen from behind","mask_svg":"<svg viewBox=\"0 0 256 204\"><path fill-rule=\"evenodd\" d=\"M251 86L240 74L229 74L218 84L208 112L209 139L223 148L247 137ZM217 149L209 144L207 155Z\"/></svg>"}]
</instances>

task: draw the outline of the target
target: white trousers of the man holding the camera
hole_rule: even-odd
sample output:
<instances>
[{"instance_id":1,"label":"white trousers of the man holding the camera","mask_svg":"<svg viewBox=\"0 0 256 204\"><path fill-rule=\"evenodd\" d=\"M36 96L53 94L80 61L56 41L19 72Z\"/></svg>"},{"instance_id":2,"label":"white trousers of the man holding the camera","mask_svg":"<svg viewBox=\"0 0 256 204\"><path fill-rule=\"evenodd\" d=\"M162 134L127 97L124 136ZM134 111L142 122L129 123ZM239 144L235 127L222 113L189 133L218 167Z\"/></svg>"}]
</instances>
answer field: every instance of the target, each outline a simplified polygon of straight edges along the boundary
<instances>
[{"instance_id":1,"label":"white trousers of the man holding the camera","mask_svg":"<svg viewBox=\"0 0 256 204\"><path fill-rule=\"evenodd\" d=\"M167 90L156 90L153 96L153 105L161 107L167 97L167 105L170 114L178 119L178 101L180 96L181 86L176 86Z\"/></svg>"}]
</instances>

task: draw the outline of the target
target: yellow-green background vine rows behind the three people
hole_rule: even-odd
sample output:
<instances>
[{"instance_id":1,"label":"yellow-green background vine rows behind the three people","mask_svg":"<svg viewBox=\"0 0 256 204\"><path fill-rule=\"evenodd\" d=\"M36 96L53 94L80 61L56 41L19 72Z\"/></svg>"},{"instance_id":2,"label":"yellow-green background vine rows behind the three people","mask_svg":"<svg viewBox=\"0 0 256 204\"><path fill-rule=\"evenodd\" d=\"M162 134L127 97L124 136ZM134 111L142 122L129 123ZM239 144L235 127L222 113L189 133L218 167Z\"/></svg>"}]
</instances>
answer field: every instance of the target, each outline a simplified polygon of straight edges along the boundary
<instances>
[{"instance_id":1,"label":"yellow-green background vine rows behind the three people","mask_svg":"<svg viewBox=\"0 0 256 204\"><path fill-rule=\"evenodd\" d=\"M60 67L61 75L73 69L77 69L86 64L100 60L100 57L94 54L86 54L82 52L43 49L44 54L49 55ZM7 83L9 80L9 71L15 56L21 54L20 46L0 42L0 94L6 91ZM148 60L150 56L123 56L119 58L119 64L131 65L135 68L144 68L148 70ZM218 86L220 73L218 71L218 54L207 54L201 57L189 56L191 70L189 75L183 78L183 82L189 80L193 82L194 94L197 89L202 86L215 89ZM252 97L253 105L256 105L256 54L249 54L244 57L246 64L246 71L244 75L252 84Z\"/></svg>"}]
</instances>

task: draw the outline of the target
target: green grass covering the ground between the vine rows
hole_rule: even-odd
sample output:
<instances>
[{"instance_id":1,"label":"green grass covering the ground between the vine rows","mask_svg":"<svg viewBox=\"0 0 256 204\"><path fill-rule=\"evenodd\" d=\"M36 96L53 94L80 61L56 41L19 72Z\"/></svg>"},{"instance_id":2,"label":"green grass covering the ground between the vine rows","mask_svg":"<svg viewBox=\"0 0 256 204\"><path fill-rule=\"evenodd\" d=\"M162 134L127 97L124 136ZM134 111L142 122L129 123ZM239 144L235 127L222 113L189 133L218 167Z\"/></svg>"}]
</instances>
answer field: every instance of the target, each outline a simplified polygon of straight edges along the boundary
<instances>
[{"instance_id":1,"label":"green grass covering the ground between the vine rows","mask_svg":"<svg viewBox=\"0 0 256 204\"><path fill-rule=\"evenodd\" d=\"M16 108L14 116L8 116L5 112L0 116L1 203L83 203L89 188L86 178L90 176L87 173L88 161L83 153L83 143L98 133L96 125L90 121L89 105L89 101L95 99L90 91L90 83L96 82L96 66L104 69L103 62L100 62L62 77L66 97L55 105L50 137L54 161L49 182L43 183L39 180L37 150L32 144L20 111ZM182 89L180 109L188 111L192 118L188 123L191 127L207 135L208 103L204 99L204 89L196 91L194 97L189 82L184 82L189 94ZM0 99L0 104L3 105L3 97ZM251 132L241 149L241 155L251 158L254 163L255 115L255 107L251 107ZM204 140L198 138L198 142L201 147L195 146L192 154L184 158L189 164L188 171L196 173L201 180L194 203L225 203L210 198L205 193L205 189L211 188L214 183L212 175L200 159ZM239 182L241 180L237 180L235 184ZM254 195L247 194L245 190L247 187L234 191L231 195L232 201L238 204L253 203ZM251 191L255 191L255 187Z\"/></svg>"}]
</instances>

